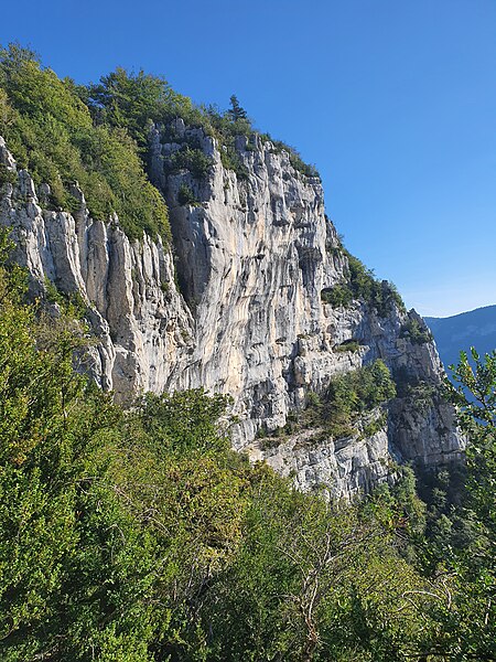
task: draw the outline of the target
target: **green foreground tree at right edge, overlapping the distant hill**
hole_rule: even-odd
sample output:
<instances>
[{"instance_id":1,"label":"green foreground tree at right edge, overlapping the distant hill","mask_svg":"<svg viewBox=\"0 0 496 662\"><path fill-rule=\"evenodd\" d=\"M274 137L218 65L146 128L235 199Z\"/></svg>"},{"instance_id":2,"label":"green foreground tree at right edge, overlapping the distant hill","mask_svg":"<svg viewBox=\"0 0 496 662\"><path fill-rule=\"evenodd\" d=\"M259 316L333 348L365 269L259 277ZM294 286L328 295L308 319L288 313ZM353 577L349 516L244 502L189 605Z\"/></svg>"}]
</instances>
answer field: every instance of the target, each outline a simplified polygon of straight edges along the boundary
<instances>
[{"instance_id":1,"label":"green foreground tree at right edge, overlapping the distant hill","mask_svg":"<svg viewBox=\"0 0 496 662\"><path fill-rule=\"evenodd\" d=\"M466 473L462 471L453 494L453 471L441 471L431 481L428 534L429 564L450 577L448 605L431 607L427 617L435 626L427 649L449 660L496 658L495 566L495 425L496 352L484 359L472 349L452 366L454 384L446 378L446 395L457 409L467 435ZM435 520L435 523L433 522Z\"/></svg>"}]
</instances>

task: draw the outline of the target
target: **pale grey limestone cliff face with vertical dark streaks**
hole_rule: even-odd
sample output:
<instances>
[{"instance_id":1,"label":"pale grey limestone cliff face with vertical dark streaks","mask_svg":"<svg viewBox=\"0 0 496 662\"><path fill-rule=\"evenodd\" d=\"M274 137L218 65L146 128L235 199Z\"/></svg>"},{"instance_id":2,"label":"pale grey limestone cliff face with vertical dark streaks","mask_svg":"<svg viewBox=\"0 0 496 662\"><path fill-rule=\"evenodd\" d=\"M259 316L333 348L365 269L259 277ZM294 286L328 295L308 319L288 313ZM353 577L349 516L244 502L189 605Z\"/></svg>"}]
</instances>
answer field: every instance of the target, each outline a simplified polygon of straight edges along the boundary
<instances>
[{"instance_id":1,"label":"pale grey limestone cliff face with vertical dark streaks","mask_svg":"<svg viewBox=\"0 0 496 662\"><path fill-rule=\"evenodd\" d=\"M402 383L435 387L441 366L432 342L416 344L405 333L411 319L423 324L416 313L393 302L382 317L365 301L323 302L322 290L348 278L348 263L319 179L298 172L288 152L258 136L237 139L236 174L212 137L176 125L174 142L152 132L150 163L170 209L176 278L169 246L147 236L131 243L117 218L90 218L76 184L74 215L48 211L50 190L36 191L25 171L2 190L0 222L12 228L15 259L32 274L33 289L47 278L90 306L99 383L121 399L138 389L196 386L230 394L240 420L236 448L295 474L302 489L327 483L349 495L385 480L390 457L454 459L460 440L451 409L439 398L419 408L408 388L370 439L299 438L266 450L254 441L261 428L284 426L336 373L380 357ZM211 160L200 178L171 173L170 159L184 143ZM15 170L3 141L0 159ZM195 204L180 203L185 190ZM336 349L352 339L358 351Z\"/></svg>"}]
</instances>

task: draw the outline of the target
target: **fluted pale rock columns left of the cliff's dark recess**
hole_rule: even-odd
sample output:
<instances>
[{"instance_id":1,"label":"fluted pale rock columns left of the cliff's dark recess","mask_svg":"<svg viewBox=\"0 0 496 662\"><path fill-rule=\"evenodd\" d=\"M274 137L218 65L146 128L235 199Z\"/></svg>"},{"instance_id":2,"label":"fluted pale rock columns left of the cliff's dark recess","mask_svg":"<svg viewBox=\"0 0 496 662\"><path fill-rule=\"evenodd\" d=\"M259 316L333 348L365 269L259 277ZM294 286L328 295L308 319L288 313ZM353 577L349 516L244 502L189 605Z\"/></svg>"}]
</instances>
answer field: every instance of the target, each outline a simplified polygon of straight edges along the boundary
<instances>
[{"instance_id":1,"label":"fluted pale rock columns left of the cliff's dark recess","mask_svg":"<svg viewBox=\"0 0 496 662\"><path fill-rule=\"evenodd\" d=\"M0 158L13 171L6 152ZM173 387L192 351L194 322L176 290L169 247L148 236L130 242L117 218L90 218L77 184L73 194L80 207L69 214L43 209L50 188L36 192L25 170L18 182L4 184L0 202L0 223L15 243L13 258L29 269L33 296L46 280L62 292L80 292L99 339L90 349L97 382L120 399Z\"/></svg>"}]
</instances>

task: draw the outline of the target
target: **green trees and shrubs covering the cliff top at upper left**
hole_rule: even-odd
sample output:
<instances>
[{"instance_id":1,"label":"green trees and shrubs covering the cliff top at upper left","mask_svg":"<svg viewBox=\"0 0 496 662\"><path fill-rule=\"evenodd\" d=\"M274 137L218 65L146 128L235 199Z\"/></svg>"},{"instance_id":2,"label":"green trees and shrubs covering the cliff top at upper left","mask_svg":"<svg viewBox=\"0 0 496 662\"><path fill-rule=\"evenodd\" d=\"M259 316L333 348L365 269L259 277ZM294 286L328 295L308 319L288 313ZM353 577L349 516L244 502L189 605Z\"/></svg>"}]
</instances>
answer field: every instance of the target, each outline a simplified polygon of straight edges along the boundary
<instances>
[{"instance_id":1,"label":"green trees and shrubs covering the cliff top at upper left","mask_svg":"<svg viewBox=\"0 0 496 662\"><path fill-rule=\"evenodd\" d=\"M165 203L143 171L150 164L153 126L161 127L162 141L185 141L165 160L166 173L188 170L202 179L211 171L212 159L200 146L175 135L177 118L215 136L224 167L247 179L236 138L246 136L249 150L256 132L235 96L225 113L198 108L164 78L120 67L84 87L57 78L31 51L17 45L0 50L0 132L19 166L30 171L36 184L50 184L50 203L56 210L78 210L72 194L72 185L78 182L91 215L108 221L117 213L130 238L140 238L143 232L170 238ZM298 152L280 147L296 170L315 175ZM13 182L14 177L3 168L0 185L7 181Z\"/></svg>"}]
</instances>

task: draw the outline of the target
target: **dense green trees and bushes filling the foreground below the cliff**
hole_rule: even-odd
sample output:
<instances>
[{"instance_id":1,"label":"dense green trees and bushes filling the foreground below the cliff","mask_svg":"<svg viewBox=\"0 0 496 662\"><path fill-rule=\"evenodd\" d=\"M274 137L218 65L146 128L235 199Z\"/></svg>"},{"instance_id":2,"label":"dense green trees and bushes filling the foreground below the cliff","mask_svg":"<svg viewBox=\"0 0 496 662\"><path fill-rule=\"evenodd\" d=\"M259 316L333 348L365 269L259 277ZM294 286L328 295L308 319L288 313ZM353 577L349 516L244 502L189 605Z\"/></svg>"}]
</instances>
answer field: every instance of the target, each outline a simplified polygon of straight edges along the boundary
<instances>
[{"instance_id":1,"label":"dense green trees and bushes filling the foreground below the cliff","mask_svg":"<svg viewBox=\"0 0 496 662\"><path fill-rule=\"evenodd\" d=\"M496 357L481 364L481 409L456 395L476 533L441 556L409 470L330 504L230 450L225 396L112 404L73 369L80 322L25 303L1 245L2 660L494 658Z\"/></svg>"}]
</instances>

